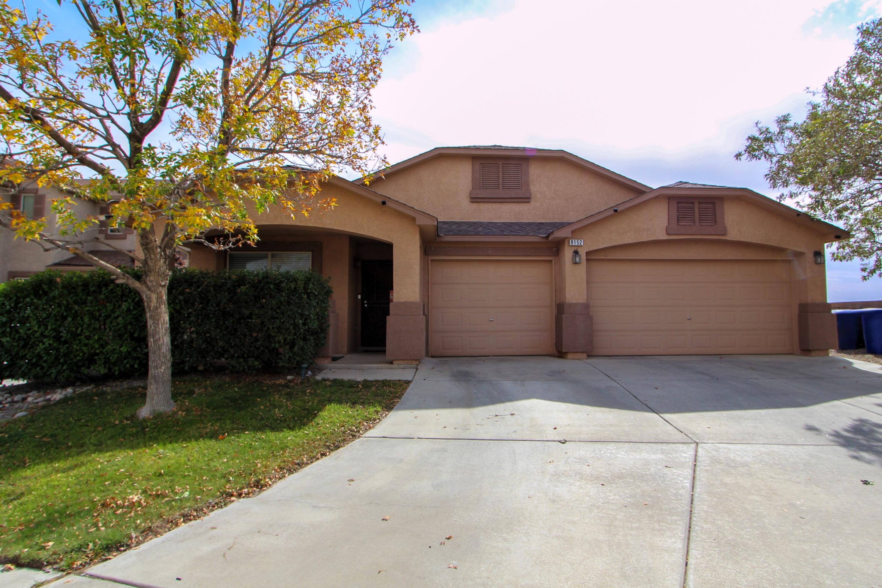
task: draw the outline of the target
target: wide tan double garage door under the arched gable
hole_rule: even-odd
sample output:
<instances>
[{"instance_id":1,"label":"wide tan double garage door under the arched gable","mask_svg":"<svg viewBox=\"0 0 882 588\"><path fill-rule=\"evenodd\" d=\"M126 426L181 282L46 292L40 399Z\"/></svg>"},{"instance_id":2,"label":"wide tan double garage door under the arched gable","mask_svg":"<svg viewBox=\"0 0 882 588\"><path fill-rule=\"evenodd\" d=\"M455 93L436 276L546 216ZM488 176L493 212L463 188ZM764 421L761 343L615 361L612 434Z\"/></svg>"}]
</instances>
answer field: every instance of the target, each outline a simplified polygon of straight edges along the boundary
<instances>
[{"instance_id":1,"label":"wide tan double garage door under the arched gable","mask_svg":"<svg viewBox=\"0 0 882 588\"><path fill-rule=\"evenodd\" d=\"M592 259L594 355L791 354L790 264Z\"/></svg>"}]
</instances>

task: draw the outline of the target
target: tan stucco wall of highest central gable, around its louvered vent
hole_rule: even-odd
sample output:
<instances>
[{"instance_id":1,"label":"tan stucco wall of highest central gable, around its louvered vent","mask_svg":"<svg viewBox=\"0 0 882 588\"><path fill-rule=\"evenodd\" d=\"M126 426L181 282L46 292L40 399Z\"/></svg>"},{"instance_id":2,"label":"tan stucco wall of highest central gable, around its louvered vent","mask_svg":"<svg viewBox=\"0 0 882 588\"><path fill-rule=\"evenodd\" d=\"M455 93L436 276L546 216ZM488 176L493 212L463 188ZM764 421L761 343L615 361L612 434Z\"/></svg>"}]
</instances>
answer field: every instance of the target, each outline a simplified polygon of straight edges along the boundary
<instances>
[{"instance_id":1,"label":"tan stucco wall of highest central gable, around its louvered vent","mask_svg":"<svg viewBox=\"0 0 882 588\"><path fill-rule=\"evenodd\" d=\"M579 220L640 192L568 161L529 158L530 202L471 202L472 158L439 155L377 178L370 189L439 220Z\"/></svg>"}]
</instances>

